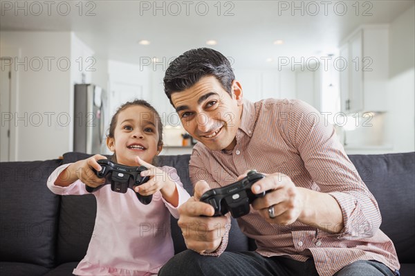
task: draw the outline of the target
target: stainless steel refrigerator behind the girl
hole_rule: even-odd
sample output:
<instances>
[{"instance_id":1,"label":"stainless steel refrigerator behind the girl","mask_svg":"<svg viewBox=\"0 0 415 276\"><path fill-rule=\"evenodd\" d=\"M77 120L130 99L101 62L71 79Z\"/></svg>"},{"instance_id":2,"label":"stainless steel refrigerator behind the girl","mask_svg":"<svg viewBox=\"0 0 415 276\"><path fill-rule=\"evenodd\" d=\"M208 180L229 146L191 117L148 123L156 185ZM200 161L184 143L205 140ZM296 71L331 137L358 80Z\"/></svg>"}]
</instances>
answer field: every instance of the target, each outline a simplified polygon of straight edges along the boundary
<instances>
[{"instance_id":1,"label":"stainless steel refrigerator behind the girl","mask_svg":"<svg viewBox=\"0 0 415 276\"><path fill-rule=\"evenodd\" d=\"M107 126L107 94L100 86L75 84L73 151L102 154Z\"/></svg>"}]
</instances>

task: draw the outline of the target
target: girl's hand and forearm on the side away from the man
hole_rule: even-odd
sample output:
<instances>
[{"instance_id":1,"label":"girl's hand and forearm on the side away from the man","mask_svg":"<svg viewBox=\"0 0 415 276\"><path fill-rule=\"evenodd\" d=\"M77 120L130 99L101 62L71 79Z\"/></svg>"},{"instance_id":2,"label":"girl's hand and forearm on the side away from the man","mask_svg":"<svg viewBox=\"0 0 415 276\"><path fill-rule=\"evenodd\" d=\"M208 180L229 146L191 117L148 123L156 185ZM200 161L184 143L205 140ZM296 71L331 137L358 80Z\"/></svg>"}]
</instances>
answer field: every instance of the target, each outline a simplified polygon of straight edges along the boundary
<instances>
[{"instance_id":1,"label":"girl's hand and forearm on the side away from the man","mask_svg":"<svg viewBox=\"0 0 415 276\"><path fill-rule=\"evenodd\" d=\"M101 159L107 159L107 157L95 154L90 158L79 160L69 165L59 174L55 181L55 185L66 187L78 179L90 187L98 187L99 185L104 184L105 178L99 178L93 171L93 169L97 171L101 170L101 166L97 162Z\"/></svg>"}]
</instances>

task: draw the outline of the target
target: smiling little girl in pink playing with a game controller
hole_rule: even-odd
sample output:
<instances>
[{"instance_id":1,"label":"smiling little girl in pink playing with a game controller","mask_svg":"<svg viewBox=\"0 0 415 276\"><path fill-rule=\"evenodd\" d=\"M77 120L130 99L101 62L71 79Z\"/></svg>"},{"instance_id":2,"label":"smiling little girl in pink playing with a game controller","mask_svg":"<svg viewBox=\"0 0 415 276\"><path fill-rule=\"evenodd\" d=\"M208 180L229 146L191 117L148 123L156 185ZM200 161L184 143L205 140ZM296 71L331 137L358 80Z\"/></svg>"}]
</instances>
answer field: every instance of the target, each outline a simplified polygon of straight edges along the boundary
<instances>
[{"instance_id":1,"label":"smiling little girl in pink playing with a game controller","mask_svg":"<svg viewBox=\"0 0 415 276\"><path fill-rule=\"evenodd\" d=\"M154 107L144 100L123 104L113 116L107 146L113 161L122 165L148 168L142 176L147 183L134 187L144 196L153 194L148 205L138 201L136 194L113 192L104 185L93 192L97 199L95 228L86 256L75 275L151 275L174 255L170 233L170 213L178 218L178 206L190 195L183 189L176 169L154 167L153 159L163 148L163 125ZM93 169L100 171L99 154L62 165L48 180L55 194L89 194L85 185L104 184Z\"/></svg>"}]
</instances>

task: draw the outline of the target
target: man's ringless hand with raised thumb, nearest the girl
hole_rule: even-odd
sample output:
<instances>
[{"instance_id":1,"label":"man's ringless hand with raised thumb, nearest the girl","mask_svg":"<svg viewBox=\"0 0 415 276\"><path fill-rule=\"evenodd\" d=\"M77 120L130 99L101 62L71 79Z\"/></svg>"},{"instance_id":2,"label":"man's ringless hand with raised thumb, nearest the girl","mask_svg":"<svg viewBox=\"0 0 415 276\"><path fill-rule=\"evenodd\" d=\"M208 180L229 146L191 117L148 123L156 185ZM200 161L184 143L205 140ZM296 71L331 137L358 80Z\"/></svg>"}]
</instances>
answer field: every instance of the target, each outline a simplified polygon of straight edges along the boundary
<instances>
[{"instance_id":1,"label":"man's ringless hand with raised thumb, nearest the girl","mask_svg":"<svg viewBox=\"0 0 415 276\"><path fill-rule=\"evenodd\" d=\"M208 190L208 183L199 181L194 186L194 196L178 208L178 226L183 232L186 246L199 253L214 252L219 247L228 221L225 216L212 217L214 208L199 201Z\"/></svg>"}]
</instances>

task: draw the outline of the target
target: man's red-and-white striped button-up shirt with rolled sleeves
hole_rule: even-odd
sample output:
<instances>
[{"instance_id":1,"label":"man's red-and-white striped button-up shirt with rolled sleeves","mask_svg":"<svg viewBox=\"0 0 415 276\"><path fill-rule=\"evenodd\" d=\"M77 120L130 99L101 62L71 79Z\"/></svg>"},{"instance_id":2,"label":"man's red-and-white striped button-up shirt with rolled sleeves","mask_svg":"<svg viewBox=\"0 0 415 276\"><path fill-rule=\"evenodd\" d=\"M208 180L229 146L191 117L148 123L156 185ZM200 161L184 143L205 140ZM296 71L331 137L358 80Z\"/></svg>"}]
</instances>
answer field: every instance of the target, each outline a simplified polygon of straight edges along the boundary
<instances>
[{"instance_id":1,"label":"man's red-and-white striped button-up shirt with rolled sleeves","mask_svg":"<svg viewBox=\"0 0 415 276\"><path fill-rule=\"evenodd\" d=\"M331 234L298 221L288 226L270 224L251 207L237 221L242 232L255 239L260 255L313 258L320 275L333 275L358 260L380 261L393 271L399 268L394 244L379 230L376 199L333 126L317 110L299 100L244 100L236 139L232 151L211 151L197 143L190 160L192 183L205 180L211 187L222 187L249 169L281 172L297 187L333 196L343 214L344 227ZM225 234L213 255L220 255L227 243Z\"/></svg>"}]
</instances>

